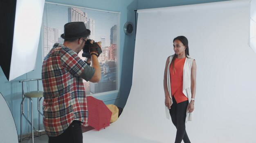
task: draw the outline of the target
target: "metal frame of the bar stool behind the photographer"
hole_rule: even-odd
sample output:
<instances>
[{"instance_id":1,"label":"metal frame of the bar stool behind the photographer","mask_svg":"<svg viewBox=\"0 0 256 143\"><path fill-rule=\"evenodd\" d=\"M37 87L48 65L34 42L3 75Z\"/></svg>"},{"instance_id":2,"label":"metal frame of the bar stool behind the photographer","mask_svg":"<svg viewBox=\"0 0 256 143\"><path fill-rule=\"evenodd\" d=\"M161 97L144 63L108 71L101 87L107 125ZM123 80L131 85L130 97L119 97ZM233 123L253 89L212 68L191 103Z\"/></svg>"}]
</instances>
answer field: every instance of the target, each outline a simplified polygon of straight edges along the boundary
<instances>
[{"instance_id":1,"label":"metal frame of the bar stool behind the photographer","mask_svg":"<svg viewBox=\"0 0 256 143\"><path fill-rule=\"evenodd\" d=\"M29 125L31 126L32 143L34 143L34 130L36 132L38 132L38 137L40 137L41 132L45 131L44 129L40 130L40 116L41 115L43 116L43 113L40 111L40 101L41 101L42 97L37 98L38 130L36 130L36 128L34 127L34 121L33 121L33 100L30 97L28 97L26 95L26 93L24 93L23 82L27 82L27 84L28 84L28 82L34 81L34 80L37 80L37 92L42 92L42 91L39 91L39 80L42 80L42 79L27 79L27 80L20 80L19 81L19 82L22 83L22 101L21 101L21 104L20 104L20 143L22 143L22 116L25 117L25 119L28 122L28 129L29 129ZM30 92L36 92L36 91L30 91ZM27 91L27 93L29 93L29 91ZM27 98L27 116L24 114L24 100L25 100L25 98ZM31 121L29 121L29 119L28 119L29 118L29 100L30 100L30 103L31 103Z\"/></svg>"}]
</instances>

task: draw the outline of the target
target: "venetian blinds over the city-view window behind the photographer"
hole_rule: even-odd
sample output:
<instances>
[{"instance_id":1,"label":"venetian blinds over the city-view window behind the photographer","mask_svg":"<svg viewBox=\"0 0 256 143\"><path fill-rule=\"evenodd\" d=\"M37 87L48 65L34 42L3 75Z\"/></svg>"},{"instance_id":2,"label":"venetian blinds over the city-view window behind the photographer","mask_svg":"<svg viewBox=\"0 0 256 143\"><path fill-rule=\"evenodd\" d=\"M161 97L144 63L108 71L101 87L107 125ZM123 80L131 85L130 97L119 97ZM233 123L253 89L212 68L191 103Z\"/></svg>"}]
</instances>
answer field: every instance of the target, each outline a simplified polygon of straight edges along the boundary
<instances>
[{"instance_id":1,"label":"venetian blinds over the city-view window behind the photographer","mask_svg":"<svg viewBox=\"0 0 256 143\"><path fill-rule=\"evenodd\" d=\"M42 24L43 58L52 49L54 43L63 43L61 38L63 27L68 22L84 22L91 30L89 39L101 41L102 53L99 56L101 80L98 83L84 80L86 95L92 95L101 100L117 98L118 95L118 51L120 13L88 9L46 2ZM82 52L79 53L81 59ZM103 96L102 96L103 95Z\"/></svg>"}]
</instances>

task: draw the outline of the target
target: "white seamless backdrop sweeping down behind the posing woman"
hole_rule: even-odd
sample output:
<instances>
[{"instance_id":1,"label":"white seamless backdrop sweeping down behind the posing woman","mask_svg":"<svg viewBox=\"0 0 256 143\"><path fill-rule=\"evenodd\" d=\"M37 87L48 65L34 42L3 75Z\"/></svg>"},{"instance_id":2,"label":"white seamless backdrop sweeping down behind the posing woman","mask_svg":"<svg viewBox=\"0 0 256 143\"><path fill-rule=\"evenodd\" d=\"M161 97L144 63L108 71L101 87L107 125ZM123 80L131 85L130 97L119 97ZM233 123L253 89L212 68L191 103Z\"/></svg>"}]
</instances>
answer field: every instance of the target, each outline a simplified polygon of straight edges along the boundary
<instances>
[{"instance_id":1,"label":"white seamless backdrop sweeping down behind the posing woman","mask_svg":"<svg viewBox=\"0 0 256 143\"><path fill-rule=\"evenodd\" d=\"M249 0L137 12L132 88L124 111L105 130L85 132L85 141L113 134L116 143L174 142L176 129L165 115L164 66L174 54L173 39L184 35L197 64L195 111L186 124L191 142L254 142L256 54L248 45Z\"/></svg>"}]
</instances>

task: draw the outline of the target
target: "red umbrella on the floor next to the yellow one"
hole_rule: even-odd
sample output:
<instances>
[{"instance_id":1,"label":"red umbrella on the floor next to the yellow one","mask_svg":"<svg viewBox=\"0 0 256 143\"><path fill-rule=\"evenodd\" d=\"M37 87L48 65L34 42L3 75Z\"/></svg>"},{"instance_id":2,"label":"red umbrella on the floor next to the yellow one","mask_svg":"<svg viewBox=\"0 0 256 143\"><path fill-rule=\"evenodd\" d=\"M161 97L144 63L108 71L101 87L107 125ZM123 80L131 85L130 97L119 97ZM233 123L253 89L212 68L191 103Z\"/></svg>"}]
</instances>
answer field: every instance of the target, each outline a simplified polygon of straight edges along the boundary
<instances>
[{"instance_id":1,"label":"red umbrella on the floor next to the yellow one","mask_svg":"<svg viewBox=\"0 0 256 143\"><path fill-rule=\"evenodd\" d=\"M110 125L110 119L112 112L103 103L103 101L88 96L87 108L88 108L88 125L92 126L96 130L105 128Z\"/></svg>"}]
</instances>

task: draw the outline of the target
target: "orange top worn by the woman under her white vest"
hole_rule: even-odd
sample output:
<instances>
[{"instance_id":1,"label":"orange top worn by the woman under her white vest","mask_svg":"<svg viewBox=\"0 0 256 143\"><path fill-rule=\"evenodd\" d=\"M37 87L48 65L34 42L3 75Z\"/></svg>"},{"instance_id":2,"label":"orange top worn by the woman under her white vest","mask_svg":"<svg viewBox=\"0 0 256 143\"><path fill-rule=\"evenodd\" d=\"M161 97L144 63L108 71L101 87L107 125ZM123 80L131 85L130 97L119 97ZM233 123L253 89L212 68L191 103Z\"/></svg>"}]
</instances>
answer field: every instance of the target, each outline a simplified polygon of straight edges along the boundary
<instances>
[{"instance_id":1,"label":"orange top worn by the woman under her white vest","mask_svg":"<svg viewBox=\"0 0 256 143\"><path fill-rule=\"evenodd\" d=\"M183 102L188 100L188 98L182 92L183 90L183 67L186 58L176 58L174 61L174 69L173 65L171 64L170 75L171 75L171 94L172 97L174 96L177 103Z\"/></svg>"}]
</instances>

